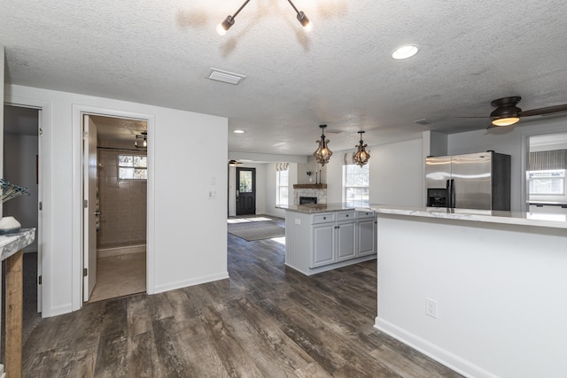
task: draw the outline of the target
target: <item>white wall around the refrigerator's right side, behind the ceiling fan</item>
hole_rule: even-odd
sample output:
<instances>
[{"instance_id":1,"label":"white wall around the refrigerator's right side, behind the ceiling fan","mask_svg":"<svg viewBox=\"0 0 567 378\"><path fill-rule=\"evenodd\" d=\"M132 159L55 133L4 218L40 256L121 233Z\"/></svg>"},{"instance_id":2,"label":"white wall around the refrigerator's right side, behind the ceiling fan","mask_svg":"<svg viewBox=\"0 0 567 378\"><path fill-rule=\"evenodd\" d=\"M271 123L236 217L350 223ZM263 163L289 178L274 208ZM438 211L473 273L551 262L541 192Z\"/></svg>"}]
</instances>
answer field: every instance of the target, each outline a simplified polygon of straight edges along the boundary
<instances>
[{"instance_id":1,"label":"white wall around the refrigerator's right side, behind the ceiling fan","mask_svg":"<svg viewBox=\"0 0 567 378\"><path fill-rule=\"evenodd\" d=\"M477 130L452 134L448 137L448 154L494 150L511 156L511 210L525 211L525 169L528 158L528 139L532 135L555 134L567 131L567 119L520 121L515 127Z\"/></svg>"}]
</instances>

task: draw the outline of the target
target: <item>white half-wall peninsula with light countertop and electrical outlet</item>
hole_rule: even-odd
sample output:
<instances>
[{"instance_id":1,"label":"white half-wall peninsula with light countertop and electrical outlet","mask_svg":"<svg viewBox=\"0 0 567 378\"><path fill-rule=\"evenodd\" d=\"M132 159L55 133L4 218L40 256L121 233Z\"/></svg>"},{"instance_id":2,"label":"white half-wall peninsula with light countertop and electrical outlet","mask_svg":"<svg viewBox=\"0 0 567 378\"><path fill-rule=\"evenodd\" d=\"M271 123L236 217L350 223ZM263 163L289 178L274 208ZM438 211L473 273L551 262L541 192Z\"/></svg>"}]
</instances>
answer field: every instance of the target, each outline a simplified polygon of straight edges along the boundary
<instances>
[{"instance_id":1,"label":"white half-wall peninsula with light countertop and electrical outlet","mask_svg":"<svg viewBox=\"0 0 567 378\"><path fill-rule=\"evenodd\" d=\"M565 214L368 209L377 329L465 376L567 371Z\"/></svg>"}]
</instances>

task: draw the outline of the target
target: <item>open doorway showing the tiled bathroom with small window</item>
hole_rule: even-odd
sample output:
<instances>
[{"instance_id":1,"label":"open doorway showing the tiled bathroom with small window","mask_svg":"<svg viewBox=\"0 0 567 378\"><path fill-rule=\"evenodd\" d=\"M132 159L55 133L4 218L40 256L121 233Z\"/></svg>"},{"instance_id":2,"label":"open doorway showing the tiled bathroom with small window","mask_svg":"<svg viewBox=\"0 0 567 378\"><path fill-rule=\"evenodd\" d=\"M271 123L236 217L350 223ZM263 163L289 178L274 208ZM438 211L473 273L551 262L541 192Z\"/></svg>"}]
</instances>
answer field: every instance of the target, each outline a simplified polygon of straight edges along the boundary
<instances>
[{"instance_id":1,"label":"open doorway showing the tiled bathroom with small window","mask_svg":"<svg viewBox=\"0 0 567 378\"><path fill-rule=\"evenodd\" d=\"M82 123L83 301L145 292L147 120L83 114Z\"/></svg>"}]
</instances>

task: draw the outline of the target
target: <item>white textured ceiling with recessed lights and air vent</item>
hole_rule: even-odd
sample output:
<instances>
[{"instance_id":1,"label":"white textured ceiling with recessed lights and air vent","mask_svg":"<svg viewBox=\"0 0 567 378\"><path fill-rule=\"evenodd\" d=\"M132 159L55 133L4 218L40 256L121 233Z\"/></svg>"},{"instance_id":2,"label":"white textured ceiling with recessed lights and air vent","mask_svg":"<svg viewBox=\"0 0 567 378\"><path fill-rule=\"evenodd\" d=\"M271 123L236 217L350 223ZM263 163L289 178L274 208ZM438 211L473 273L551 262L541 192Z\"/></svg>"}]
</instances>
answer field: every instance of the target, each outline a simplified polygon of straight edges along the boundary
<instances>
[{"instance_id":1,"label":"white textured ceiling with recessed lights and air vent","mask_svg":"<svg viewBox=\"0 0 567 378\"><path fill-rule=\"evenodd\" d=\"M291 155L312 153L323 123L343 150L358 130L373 145L485 128L454 116L487 116L502 96L524 110L567 103L564 0L295 0L310 34L286 0L252 0L217 35L241 4L8 0L6 82L227 117L245 130L229 150ZM405 43L419 53L392 59ZM211 67L246 78L210 81Z\"/></svg>"}]
</instances>

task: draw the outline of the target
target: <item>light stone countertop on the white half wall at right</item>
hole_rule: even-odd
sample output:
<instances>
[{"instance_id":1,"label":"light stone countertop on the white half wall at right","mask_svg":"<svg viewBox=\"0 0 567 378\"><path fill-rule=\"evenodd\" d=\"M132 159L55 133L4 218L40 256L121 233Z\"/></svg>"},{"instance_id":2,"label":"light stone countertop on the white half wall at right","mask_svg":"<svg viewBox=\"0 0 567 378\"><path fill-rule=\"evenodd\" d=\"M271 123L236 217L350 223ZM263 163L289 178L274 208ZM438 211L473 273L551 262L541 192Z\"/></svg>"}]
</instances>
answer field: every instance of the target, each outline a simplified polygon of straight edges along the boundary
<instances>
[{"instance_id":1,"label":"light stone countertop on the white half wall at right","mask_svg":"<svg viewBox=\"0 0 567 378\"><path fill-rule=\"evenodd\" d=\"M445 207L409 207L369 204L358 211L372 210L378 214L408 215L445 220L470 220L519 226L567 229L567 214L544 212L502 212L495 210L447 209Z\"/></svg>"}]
</instances>

